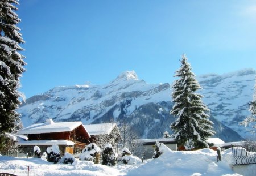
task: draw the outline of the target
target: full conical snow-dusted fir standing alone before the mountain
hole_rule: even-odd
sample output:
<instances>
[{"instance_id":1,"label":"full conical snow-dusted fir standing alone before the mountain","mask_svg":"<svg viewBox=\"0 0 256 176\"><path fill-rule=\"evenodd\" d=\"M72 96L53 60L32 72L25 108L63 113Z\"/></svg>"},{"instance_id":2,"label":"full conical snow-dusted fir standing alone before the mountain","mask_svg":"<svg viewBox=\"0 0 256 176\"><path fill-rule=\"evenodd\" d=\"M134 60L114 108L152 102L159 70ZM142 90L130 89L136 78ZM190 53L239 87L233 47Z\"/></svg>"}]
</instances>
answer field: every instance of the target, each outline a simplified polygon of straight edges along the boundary
<instances>
[{"instance_id":1,"label":"full conical snow-dusted fir standing alone before the mountain","mask_svg":"<svg viewBox=\"0 0 256 176\"><path fill-rule=\"evenodd\" d=\"M201 89L200 84L191 71L191 65L183 54L181 67L176 71L175 77L178 80L172 85L172 101L174 106L171 114L177 119L170 127L174 131L174 137L178 145L191 148L208 148L207 138L214 135L212 121L209 120L209 109L203 103L203 97L197 90Z\"/></svg>"}]
</instances>

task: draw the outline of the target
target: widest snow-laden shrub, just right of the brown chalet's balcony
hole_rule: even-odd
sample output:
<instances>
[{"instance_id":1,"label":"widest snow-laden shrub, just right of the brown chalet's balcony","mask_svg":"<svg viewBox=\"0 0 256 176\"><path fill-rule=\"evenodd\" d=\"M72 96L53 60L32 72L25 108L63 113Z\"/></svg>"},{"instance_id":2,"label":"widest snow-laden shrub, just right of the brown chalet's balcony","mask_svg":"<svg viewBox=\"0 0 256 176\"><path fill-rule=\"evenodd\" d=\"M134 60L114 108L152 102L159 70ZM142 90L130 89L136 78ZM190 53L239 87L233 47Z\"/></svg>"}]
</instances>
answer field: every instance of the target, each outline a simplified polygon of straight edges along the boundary
<instances>
[{"instance_id":1,"label":"widest snow-laden shrub, just right of the brown chalet's balcony","mask_svg":"<svg viewBox=\"0 0 256 176\"><path fill-rule=\"evenodd\" d=\"M100 162L100 152L101 149L95 143L90 143L82 150L79 160L93 161L94 164L98 164Z\"/></svg>"}]
</instances>

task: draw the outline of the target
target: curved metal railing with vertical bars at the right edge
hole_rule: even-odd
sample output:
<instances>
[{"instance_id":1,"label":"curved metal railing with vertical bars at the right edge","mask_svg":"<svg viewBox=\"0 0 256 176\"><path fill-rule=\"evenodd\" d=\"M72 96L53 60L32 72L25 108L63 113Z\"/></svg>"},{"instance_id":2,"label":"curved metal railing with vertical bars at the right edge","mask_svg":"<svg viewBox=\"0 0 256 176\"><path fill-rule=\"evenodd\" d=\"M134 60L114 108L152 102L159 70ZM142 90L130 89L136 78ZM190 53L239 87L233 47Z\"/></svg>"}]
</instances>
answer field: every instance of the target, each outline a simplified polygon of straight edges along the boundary
<instances>
[{"instance_id":1,"label":"curved metal railing with vertical bars at the right edge","mask_svg":"<svg viewBox=\"0 0 256 176\"><path fill-rule=\"evenodd\" d=\"M256 144L232 145L233 165L256 164Z\"/></svg>"}]
</instances>

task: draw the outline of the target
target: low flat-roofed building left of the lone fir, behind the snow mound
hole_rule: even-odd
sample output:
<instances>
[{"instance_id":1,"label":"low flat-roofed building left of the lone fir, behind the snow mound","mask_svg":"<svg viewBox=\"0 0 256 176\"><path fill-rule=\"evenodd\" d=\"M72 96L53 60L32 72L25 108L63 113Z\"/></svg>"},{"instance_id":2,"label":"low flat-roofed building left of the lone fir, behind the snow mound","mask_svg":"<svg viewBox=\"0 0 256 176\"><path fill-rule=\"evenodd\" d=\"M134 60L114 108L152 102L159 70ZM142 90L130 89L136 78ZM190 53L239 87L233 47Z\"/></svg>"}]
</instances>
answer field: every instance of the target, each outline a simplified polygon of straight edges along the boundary
<instances>
[{"instance_id":1,"label":"low flat-roofed building left of the lone fir, behind the snow mound","mask_svg":"<svg viewBox=\"0 0 256 176\"><path fill-rule=\"evenodd\" d=\"M155 143L163 143L166 147L173 151L177 151L177 141L174 138L159 138L159 139L138 139L134 140L135 143L143 145L143 158L150 159L153 156L155 150ZM138 156L141 157L141 156Z\"/></svg>"}]
</instances>

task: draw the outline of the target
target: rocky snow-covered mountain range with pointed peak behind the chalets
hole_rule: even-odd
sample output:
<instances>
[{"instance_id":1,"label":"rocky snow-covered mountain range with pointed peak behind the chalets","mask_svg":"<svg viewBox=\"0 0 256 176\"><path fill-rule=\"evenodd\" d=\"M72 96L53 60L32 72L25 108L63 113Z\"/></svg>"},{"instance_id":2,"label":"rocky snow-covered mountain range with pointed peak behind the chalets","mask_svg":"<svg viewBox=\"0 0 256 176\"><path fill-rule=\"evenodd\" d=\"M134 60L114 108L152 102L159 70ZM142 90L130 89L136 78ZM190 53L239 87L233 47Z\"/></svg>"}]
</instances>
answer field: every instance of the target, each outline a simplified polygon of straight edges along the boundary
<instances>
[{"instance_id":1,"label":"rocky snow-covered mountain range with pointed peak behind the chalets","mask_svg":"<svg viewBox=\"0 0 256 176\"><path fill-rule=\"evenodd\" d=\"M249 115L255 70L198 76L203 101L211 110L214 130L225 141L246 137L248 127L238 126ZM55 87L23 102L18 112L23 126L54 121L129 123L141 138L161 137L174 121L169 83L147 84L134 71L125 71L106 85ZM171 132L171 131L170 131Z\"/></svg>"}]
</instances>

